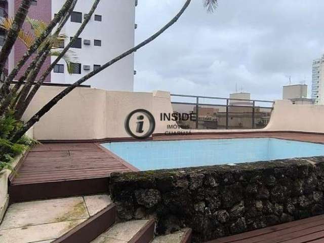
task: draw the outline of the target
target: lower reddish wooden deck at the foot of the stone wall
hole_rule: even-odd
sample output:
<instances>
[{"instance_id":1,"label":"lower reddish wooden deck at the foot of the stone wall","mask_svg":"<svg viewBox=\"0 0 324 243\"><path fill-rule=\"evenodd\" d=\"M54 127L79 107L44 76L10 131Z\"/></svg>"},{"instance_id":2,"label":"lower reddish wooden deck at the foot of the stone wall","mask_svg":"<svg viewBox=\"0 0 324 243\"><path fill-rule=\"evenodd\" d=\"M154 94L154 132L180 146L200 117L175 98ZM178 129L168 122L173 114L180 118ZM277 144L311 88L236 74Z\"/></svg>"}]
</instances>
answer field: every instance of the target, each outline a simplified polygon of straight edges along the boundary
<instances>
[{"instance_id":1,"label":"lower reddish wooden deck at the foot of the stone wall","mask_svg":"<svg viewBox=\"0 0 324 243\"><path fill-rule=\"evenodd\" d=\"M323 243L324 215L235 234L206 243Z\"/></svg>"}]
</instances>

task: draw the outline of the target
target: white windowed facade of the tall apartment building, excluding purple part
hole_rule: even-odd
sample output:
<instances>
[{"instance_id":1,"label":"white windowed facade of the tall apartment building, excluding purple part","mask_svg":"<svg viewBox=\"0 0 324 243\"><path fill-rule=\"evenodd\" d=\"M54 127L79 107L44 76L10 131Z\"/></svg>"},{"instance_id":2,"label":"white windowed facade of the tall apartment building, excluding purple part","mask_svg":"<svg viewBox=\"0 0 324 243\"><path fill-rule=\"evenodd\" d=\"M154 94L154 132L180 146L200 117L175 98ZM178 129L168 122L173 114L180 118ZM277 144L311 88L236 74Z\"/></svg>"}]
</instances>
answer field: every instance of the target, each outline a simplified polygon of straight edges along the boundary
<instances>
[{"instance_id":1,"label":"white windowed facade of the tall apartment building, excluding purple part","mask_svg":"<svg viewBox=\"0 0 324 243\"><path fill-rule=\"evenodd\" d=\"M65 0L52 0L52 18L59 11ZM74 11L89 13L93 1L78 0ZM102 22L95 21L94 15L101 15ZM82 49L71 48L82 64L81 74L68 74L66 65L64 73L51 73L52 83L71 84L85 74L93 71L93 65L102 65L110 59L134 47L135 0L104 0L101 1L83 33ZM69 42L81 24L67 21L62 33L68 36ZM84 45L84 39L90 39L91 45ZM101 40L101 47L94 46L94 39ZM52 61L54 58L52 58ZM60 64L65 64L60 61ZM83 69L90 65L90 70ZM106 90L133 91L134 86L134 55L118 61L111 67L89 79L85 84Z\"/></svg>"}]
</instances>

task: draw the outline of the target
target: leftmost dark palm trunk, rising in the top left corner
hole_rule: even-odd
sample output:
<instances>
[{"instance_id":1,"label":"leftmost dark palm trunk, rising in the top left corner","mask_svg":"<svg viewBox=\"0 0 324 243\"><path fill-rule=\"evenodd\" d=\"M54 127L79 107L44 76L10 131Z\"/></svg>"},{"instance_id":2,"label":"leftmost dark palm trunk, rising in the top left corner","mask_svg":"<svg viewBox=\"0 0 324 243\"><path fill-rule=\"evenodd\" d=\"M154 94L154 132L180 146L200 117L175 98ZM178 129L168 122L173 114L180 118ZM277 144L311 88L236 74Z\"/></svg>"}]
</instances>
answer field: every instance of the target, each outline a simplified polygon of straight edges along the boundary
<instances>
[{"instance_id":1,"label":"leftmost dark palm trunk, rising in the top left corner","mask_svg":"<svg viewBox=\"0 0 324 243\"><path fill-rule=\"evenodd\" d=\"M8 31L6 41L0 53L0 76L3 73L4 67L10 55L10 52L15 45L18 33L25 22L29 7L31 5L31 0L23 0L21 5L15 15L14 23L12 28ZM2 94L0 94L1 100Z\"/></svg>"}]
</instances>

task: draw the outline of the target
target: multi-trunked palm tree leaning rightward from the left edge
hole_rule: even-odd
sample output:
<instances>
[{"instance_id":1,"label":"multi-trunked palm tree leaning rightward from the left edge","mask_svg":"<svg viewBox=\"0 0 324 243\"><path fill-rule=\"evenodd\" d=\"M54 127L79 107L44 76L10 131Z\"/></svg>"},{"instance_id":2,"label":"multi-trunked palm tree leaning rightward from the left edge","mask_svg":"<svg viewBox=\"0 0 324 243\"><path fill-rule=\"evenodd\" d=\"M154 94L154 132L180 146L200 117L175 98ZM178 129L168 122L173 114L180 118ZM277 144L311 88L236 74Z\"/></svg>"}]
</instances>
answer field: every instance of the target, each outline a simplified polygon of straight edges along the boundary
<instances>
[{"instance_id":1,"label":"multi-trunked palm tree leaning rightward from the left edge","mask_svg":"<svg viewBox=\"0 0 324 243\"><path fill-rule=\"evenodd\" d=\"M74 0L75 2L77 0ZM44 53L43 51L39 51L39 60L37 61L33 61L33 65L34 67L37 67L36 71L33 68L30 68L30 66L27 68L28 72L26 73L25 77L27 77L27 84L24 85L24 92L20 92L19 94L17 94L18 89L12 89L11 90L11 97L10 99L8 99L8 95L7 95L7 99L5 100L9 100L10 102L1 102L0 99L0 115L3 115L4 111L6 109L8 109L9 105L11 105L12 103L12 98L13 97L17 97L17 95L19 96L19 100L17 103L17 106L15 106L16 109L16 114L18 114L16 117L17 118L21 118L22 114L24 113L24 111L26 110L27 106L29 105L30 101L32 100L32 98L34 97L34 95L36 94L37 90L39 89L39 87L43 84L45 78L47 77L47 75L50 74L51 70L54 68L55 64L64 57L64 55L68 52L69 48L71 47L71 45L73 44L73 42L75 41L75 39L78 37L78 35L83 31L83 29L86 27L91 15L94 13L98 3L100 0L95 0L93 7L91 8L87 18L85 18L82 26L80 26L79 30L76 32L76 34L74 35L74 37L71 39L70 43L60 52L54 52L58 57L57 59L50 65L50 67L47 68L47 70L42 74L41 78L39 78L37 80L37 82L34 84L34 87L31 89L32 87L32 81L33 78L36 77L37 73L39 72L40 67L43 65L42 59L45 58L44 57ZM72 6L72 0L66 0L65 4L67 2L70 2L69 7ZM66 95L68 95L73 89L75 89L77 86L79 86L80 84L86 82L86 80L88 80L89 78L91 78L92 76L96 75L97 73L101 72L102 70L108 68L109 66L111 66L112 64L114 64L115 62L125 58L126 56L136 52L137 50L139 50L140 48L144 47L145 45L147 45L148 43L152 42L155 38L157 38L159 35L161 35L164 31L166 31L169 27L171 27L174 23L177 22L177 20L180 18L180 16L185 12L185 10L188 8L188 6L190 5L191 0L186 0L183 7L181 8L181 10L178 12L178 14L172 18L165 26L163 26L160 30L158 30L156 33L152 34L150 37L148 37L147 39L145 39L143 42L141 42L140 44L138 44L137 46L135 46L134 48L129 49L128 51L118 55L117 57L111 59L110 61L106 62L104 65L102 65L100 68L88 73L87 75L85 75L84 77L80 78L79 80L77 80L77 82L75 82L74 84L70 85L69 87L67 87L66 89L64 89L61 93L59 93L58 95L56 95L52 100L50 100L44 107L42 107L35 115L33 115L26 123L23 124L23 126L16 131L16 133L12 136L12 141L15 142L17 141L19 138L21 138L25 132L31 128L44 114L46 114L49 110L52 109L53 106L55 106L63 97L65 97ZM213 12L215 10L215 8L217 7L217 0L203 0L203 4L204 6L207 8L208 12ZM67 12L67 11L66 11ZM66 13L65 12L65 13ZM64 15L60 15L60 16L64 16ZM56 16L57 17L57 16ZM27 21L29 21L27 19ZM54 21L54 20L53 20ZM49 26L53 25L53 21L49 24ZM56 20L56 22L58 22L58 20ZM63 21L64 22L64 21ZM32 46L29 49L33 49L35 43L38 43L39 45L36 46L35 50L38 48L41 48L41 50L43 50L43 47L46 47L45 50L49 50L48 47L53 47L55 46L54 44L58 42L59 36L50 36L49 38L47 38L49 36L49 34L45 35L44 33L48 31L49 26L46 28L46 30L42 33L39 33L39 37L36 36L36 40L33 42ZM53 38L52 38L53 37ZM39 39L41 39L41 41L39 41ZM49 39L55 39L55 41L48 43ZM26 38L25 41L27 41L28 38ZM43 48L43 49L42 49ZM50 52L49 52L50 53ZM30 57L30 52L28 52L25 56L27 56L28 58ZM42 55L43 56L42 56ZM52 52L53 54L53 52ZM22 58L21 61L25 61L26 58L25 56ZM27 58L27 59L28 59ZM14 68L14 70L9 74L8 78L6 79L6 82L9 81L11 82L12 78L15 77L15 75L17 74L17 72L19 71L19 69L21 68L22 65L21 61L18 62L18 64L16 65L16 67ZM23 82L23 80L19 80L21 81L21 83ZM14 91L14 92L13 92ZM1 94L1 93L0 93ZM26 96L28 94L28 96ZM1 97L0 97L1 98ZM17 100L17 98L15 99ZM16 105L16 101L13 102L14 105Z\"/></svg>"}]
</instances>

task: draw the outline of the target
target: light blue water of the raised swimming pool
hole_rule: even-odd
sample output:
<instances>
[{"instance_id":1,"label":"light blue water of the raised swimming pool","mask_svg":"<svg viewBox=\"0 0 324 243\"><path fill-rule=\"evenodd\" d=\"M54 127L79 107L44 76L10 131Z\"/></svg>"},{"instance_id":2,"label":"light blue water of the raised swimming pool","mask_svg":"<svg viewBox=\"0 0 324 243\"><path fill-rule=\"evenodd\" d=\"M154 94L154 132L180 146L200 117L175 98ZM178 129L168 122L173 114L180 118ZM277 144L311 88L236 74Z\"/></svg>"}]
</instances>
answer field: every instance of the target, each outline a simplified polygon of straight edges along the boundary
<instances>
[{"instance_id":1,"label":"light blue water of the raised swimming pool","mask_svg":"<svg viewBox=\"0 0 324 243\"><path fill-rule=\"evenodd\" d=\"M112 142L102 145L143 171L324 155L323 144L274 138Z\"/></svg>"}]
</instances>

